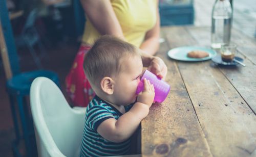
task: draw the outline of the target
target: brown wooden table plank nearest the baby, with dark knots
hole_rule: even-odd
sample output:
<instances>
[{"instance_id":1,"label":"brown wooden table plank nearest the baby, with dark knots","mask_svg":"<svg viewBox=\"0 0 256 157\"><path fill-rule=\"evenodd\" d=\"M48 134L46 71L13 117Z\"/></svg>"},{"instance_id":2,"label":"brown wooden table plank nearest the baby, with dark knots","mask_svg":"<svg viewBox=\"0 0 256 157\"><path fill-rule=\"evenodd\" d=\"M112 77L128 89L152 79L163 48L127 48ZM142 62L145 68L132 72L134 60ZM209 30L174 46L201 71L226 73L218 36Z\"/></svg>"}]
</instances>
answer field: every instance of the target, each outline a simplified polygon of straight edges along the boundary
<instances>
[{"instance_id":1,"label":"brown wooden table plank nearest the baby, with dark knots","mask_svg":"<svg viewBox=\"0 0 256 157\"><path fill-rule=\"evenodd\" d=\"M167 28L161 28L162 36L167 32ZM165 81L171 90L166 100L154 104L142 120L142 156L212 156L177 63L166 57L168 49L167 43L162 43L157 56L168 67Z\"/></svg>"}]
</instances>

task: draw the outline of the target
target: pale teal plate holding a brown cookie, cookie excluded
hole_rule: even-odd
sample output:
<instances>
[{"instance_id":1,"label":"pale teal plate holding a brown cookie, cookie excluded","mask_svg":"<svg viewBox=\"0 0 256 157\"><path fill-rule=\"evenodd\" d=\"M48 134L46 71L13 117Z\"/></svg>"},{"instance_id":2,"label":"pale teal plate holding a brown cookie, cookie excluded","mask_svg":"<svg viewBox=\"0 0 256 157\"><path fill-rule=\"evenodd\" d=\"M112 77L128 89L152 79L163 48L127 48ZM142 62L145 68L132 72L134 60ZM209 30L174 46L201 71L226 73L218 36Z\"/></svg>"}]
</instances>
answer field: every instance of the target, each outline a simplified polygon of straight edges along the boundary
<instances>
[{"instance_id":1,"label":"pale teal plate holding a brown cookie, cookie excluded","mask_svg":"<svg viewBox=\"0 0 256 157\"><path fill-rule=\"evenodd\" d=\"M190 58L187 57L187 53L193 50L203 50L209 54L208 57L205 58ZM197 47L197 46L184 46L184 47L176 47L173 49L170 49L167 53L167 55L175 60L179 61L188 61L188 62L198 62L198 61L206 61L210 60L211 58L214 58L217 53L215 50L210 48L204 48L204 47Z\"/></svg>"}]
</instances>

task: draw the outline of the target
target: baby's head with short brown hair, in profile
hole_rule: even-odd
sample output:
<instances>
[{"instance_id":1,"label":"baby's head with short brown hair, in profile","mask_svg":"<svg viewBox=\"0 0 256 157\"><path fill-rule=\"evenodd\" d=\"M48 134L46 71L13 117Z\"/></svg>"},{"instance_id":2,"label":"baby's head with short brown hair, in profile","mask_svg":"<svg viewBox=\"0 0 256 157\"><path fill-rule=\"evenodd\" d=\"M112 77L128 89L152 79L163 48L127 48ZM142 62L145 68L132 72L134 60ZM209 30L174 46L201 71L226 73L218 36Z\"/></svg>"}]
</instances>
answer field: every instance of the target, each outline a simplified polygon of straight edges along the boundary
<instances>
[{"instance_id":1,"label":"baby's head with short brown hair, in profile","mask_svg":"<svg viewBox=\"0 0 256 157\"><path fill-rule=\"evenodd\" d=\"M113 36L100 37L84 58L84 72L102 99L126 106L136 100L143 65L140 50Z\"/></svg>"}]
</instances>

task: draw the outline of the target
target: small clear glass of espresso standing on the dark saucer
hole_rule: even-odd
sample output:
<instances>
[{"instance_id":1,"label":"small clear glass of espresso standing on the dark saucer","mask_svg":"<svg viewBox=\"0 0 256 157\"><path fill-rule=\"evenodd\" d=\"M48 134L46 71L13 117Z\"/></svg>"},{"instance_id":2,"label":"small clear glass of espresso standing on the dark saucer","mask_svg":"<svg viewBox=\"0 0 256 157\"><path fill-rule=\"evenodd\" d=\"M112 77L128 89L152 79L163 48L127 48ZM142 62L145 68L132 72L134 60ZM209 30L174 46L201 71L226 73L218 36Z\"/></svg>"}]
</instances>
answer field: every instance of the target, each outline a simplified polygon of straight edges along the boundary
<instances>
[{"instance_id":1,"label":"small clear glass of espresso standing on the dark saucer","mask_svg":"<svg viewBox=\"0 0 256 157\"><path fill-rule=\"evenodd\" d=\"M221 46L221 59L224 62L232 62L236 54L237 46L234 44Z\"/></svg>"}]
</instances>

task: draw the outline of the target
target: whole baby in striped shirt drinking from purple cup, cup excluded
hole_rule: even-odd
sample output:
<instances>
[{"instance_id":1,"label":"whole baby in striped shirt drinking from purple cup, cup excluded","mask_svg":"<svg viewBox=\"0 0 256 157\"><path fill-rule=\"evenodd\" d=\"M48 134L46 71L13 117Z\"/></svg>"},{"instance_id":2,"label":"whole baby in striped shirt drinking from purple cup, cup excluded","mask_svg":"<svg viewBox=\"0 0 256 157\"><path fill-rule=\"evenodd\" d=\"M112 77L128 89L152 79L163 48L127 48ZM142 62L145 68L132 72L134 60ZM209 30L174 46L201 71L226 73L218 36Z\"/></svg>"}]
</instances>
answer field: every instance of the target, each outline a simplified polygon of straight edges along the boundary
<instances>
[{"instance_id":1,"label":"whole baby in striped shirt drinking from purple cup, cup excluded","mask_svg":"<svg viewBox=\"0 0 256 157\"><path fill-rule=\"evenodd\" d=\"M102 36L88 51L84 72L96 95L86 109L81 156L129 154L131 136L155 96L148 80L135 94L142 69L140 50L121 39Z\"/></svg>"}]
</instances>

